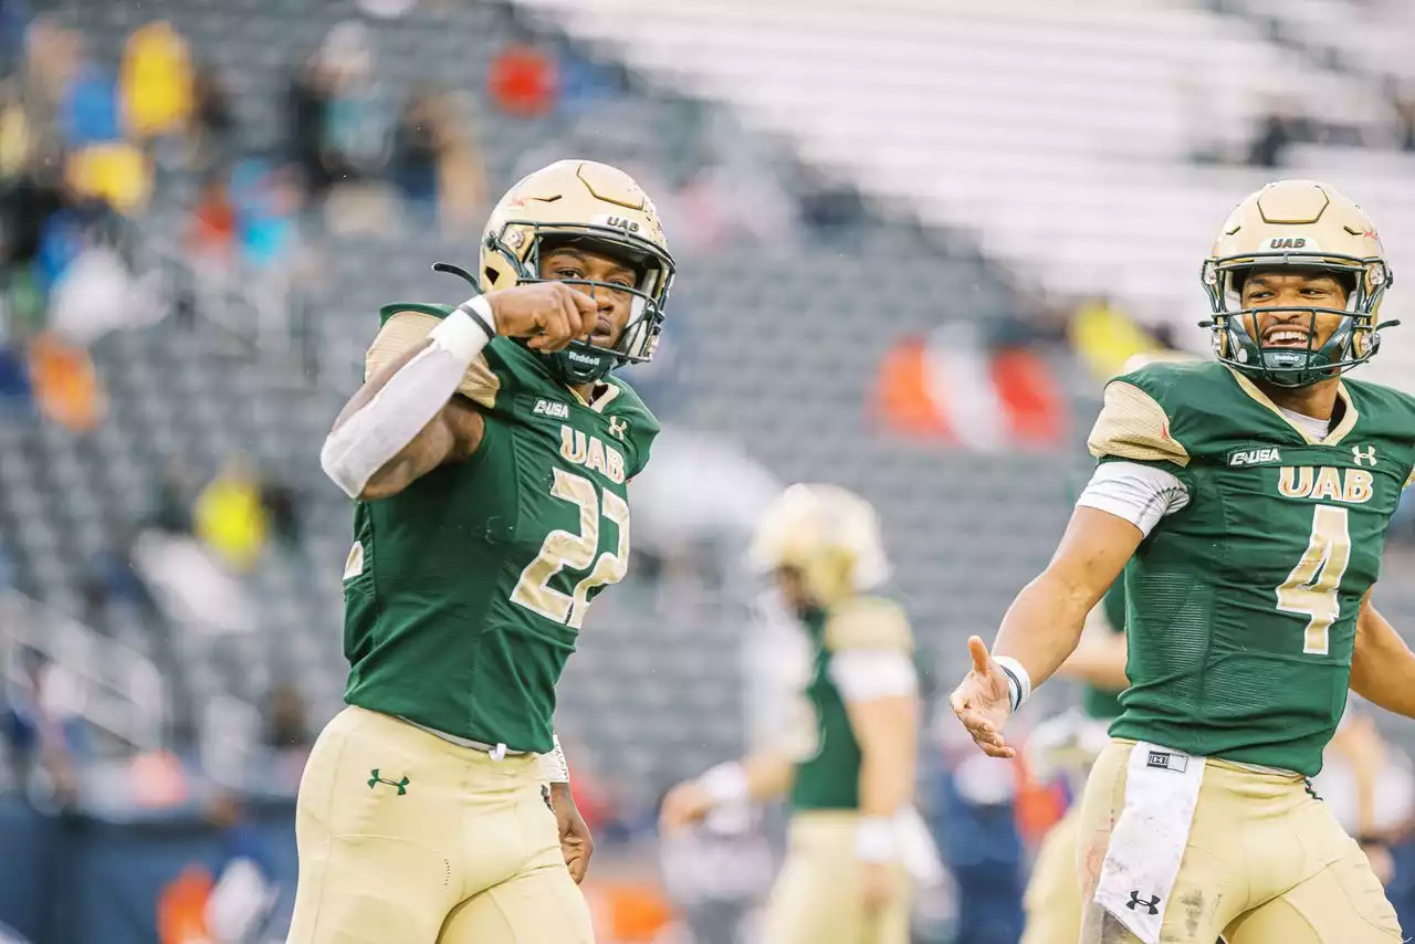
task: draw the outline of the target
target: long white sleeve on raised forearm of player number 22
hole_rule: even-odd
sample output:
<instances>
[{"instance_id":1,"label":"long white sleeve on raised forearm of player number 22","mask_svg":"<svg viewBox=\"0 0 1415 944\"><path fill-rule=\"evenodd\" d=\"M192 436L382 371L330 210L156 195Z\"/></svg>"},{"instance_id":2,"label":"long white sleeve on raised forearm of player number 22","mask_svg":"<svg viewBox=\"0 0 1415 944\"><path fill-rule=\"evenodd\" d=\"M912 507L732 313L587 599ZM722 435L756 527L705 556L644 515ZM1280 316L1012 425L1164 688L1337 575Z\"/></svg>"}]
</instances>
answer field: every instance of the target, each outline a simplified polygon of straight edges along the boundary
<instances>
[{"instance_id":1,"label":"long white sleeve on raised forearm of player number 22","mask_svg":"<svg viewBox=\"0 0 1415 944\"><path fill-rule=\"evenodd\" d=\"M485 299L474 299L471 307L494 324L487 317L491 306ZM473 358L491 341L485 327L460 310L449 314L429 337L433 341L429 347L324 440L320 466L350 498L358 498L378 470L437 416L457 392Z\"/></svg>"}]
</instances>

